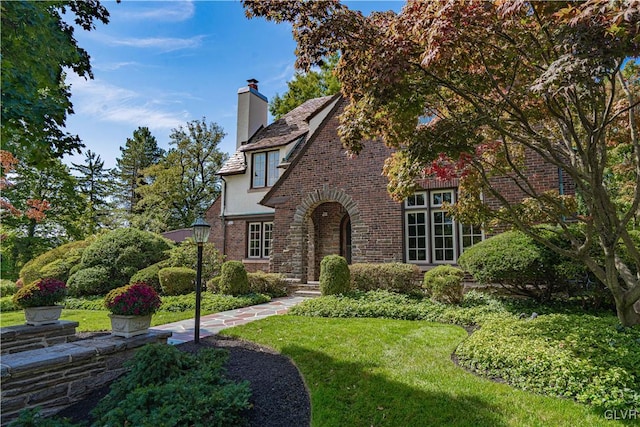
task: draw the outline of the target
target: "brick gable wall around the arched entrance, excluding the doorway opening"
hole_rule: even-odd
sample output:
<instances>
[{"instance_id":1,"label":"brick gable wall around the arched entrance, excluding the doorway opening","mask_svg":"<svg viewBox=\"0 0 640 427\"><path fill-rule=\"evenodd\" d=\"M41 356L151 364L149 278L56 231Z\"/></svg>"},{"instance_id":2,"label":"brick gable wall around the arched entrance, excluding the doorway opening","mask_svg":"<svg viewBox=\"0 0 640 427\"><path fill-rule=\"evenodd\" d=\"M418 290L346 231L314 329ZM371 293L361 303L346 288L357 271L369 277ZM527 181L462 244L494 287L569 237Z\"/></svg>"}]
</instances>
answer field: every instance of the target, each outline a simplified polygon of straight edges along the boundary
<instances>
[{"instance_id":1,"label":"brick gable wall around the arched entrance, excluding the doorway opening","mask_svg":"<svg viewBox=\"0 0 640 427\"><path fill-rule=\"evenodd\" d=\"M401 205L389 197L382 175L391 150L370 141L359 156L347 157L337 135L340 111L327 117L270 194L270 200L277 201L273 271L301 279L317 276L317 260L312 257L310 262L310 251L318 253L319 243L312 216L318 206L330 202L341 205L350 217L353 262L402 261Z\"/></svg>"}]
</instances>

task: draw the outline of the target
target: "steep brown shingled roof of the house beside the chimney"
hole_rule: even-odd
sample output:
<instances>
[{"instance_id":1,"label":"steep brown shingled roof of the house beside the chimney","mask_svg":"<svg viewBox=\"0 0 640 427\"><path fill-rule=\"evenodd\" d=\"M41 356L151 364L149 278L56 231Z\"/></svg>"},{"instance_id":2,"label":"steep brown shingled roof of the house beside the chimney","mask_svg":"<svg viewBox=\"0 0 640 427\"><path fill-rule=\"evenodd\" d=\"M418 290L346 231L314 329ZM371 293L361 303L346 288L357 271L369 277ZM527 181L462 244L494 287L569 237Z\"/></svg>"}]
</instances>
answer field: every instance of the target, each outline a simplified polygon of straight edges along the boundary
<instances>
[{"instance_id":1,"label":"steep brown shingled roof of the house beside the chimney","mask_svg":"<svg viewBox=\"0 0 640 427\"><path fill-rule=\"evenodd\" d=\"M249 141L225 162L218 175L244 173L247 169L245 152L281 147L304 137L309 132L309 120L328 105L337 95L310 99L289 111L267 127L258 129Z\"/></svg>"}]
</instances>

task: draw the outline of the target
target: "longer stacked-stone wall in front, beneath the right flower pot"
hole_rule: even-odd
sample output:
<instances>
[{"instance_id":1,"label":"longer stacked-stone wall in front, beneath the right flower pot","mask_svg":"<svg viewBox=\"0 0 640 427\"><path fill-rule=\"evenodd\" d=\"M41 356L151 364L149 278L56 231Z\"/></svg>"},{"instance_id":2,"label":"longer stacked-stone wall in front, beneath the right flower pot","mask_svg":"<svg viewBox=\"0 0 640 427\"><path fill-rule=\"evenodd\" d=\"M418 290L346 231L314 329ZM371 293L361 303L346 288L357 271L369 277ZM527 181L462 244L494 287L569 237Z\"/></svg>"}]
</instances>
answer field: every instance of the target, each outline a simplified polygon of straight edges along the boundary
<instances>
[{"instance_id":1,"label":"longer stacked-stone wall in front, beneath the right flower pot","mask_svg":"<svg viewBox=\"0 0 640 427\"><path fill-rule=\"evenodd\" d=\"M82 400L120 376L123 363L136 349L149 343L166 344L170 336L168 331L151 330L133 338L108 335L2 355L0 425L23 409L37 406L47 416Z\"/></svg>"}]
</instances>

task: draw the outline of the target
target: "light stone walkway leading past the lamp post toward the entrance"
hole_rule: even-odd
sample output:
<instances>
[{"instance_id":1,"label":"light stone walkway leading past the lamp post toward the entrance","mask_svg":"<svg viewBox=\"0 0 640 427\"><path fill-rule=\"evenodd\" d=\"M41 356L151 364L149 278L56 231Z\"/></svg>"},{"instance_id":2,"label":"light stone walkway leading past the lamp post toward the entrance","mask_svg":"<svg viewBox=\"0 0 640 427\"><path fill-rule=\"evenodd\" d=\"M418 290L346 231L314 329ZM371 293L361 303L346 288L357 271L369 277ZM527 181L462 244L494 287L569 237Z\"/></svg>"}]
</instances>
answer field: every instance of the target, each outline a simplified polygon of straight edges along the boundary
<instances>
[{"instance_id":1,"label":"light stone walkway leading past the lamp post toward the entrance","mask_svg":"<svg viewBox=\"0 0 640 427\"><path fill-rule=\"evenodd\" d=\"M284 314L289 308L306 300L306 297L289 296L274 298L270 302L208 314L200 318L200 338L217 334L222 329L236 325L243 325L258 319ZM168 339L169 344L181 344L193 341L194 319L180 320L166 325L152 326L151 329L171 331L173 335Z\"/></svg>"}]
</instances>

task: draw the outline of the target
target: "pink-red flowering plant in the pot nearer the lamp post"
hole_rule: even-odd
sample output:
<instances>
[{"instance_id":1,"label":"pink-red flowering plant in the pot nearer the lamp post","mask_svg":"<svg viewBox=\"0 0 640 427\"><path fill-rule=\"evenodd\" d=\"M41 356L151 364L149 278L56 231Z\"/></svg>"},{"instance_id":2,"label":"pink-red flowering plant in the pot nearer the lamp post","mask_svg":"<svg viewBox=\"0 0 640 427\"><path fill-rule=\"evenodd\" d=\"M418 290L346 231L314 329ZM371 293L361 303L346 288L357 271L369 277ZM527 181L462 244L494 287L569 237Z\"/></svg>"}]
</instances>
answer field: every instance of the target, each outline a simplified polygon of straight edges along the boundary
<instances>
[{"instance_id":1,"label":"pink-red flowering plant in the pot nearer the lamp post","mask_svg":"<svg viewBox=\"0 0 640 427\"><path fill-rule=\"evenodd\" d=\"M158 293L144 282L113 289L104 299L104 305L113 313L122 316L146 316L160 307Z\"/></svg>"}]
</instances>

